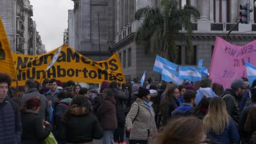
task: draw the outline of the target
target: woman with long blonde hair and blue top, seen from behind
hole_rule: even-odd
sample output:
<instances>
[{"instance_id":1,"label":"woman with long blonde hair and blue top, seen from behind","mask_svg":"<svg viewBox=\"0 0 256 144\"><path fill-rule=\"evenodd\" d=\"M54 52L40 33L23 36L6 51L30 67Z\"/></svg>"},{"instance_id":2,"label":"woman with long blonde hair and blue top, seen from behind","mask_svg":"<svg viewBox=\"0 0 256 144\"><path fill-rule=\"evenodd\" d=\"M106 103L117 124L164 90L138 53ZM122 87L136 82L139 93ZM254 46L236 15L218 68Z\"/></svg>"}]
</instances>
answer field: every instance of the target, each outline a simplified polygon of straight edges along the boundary
<instances>
[{"instance_id":1,"label":"woman with long blonde hair and blue top, seen from behind","mask_svg":"<svg viewBox=\"0 0 256 144\"><path fill-rule=\"evenodd\" d=\"M203 119L205 132L210 139L220 144L237 144L239 134L234 121L227 113L225 101L214 97L209 105L208 113Z\"/></svg>"}]
</instances>

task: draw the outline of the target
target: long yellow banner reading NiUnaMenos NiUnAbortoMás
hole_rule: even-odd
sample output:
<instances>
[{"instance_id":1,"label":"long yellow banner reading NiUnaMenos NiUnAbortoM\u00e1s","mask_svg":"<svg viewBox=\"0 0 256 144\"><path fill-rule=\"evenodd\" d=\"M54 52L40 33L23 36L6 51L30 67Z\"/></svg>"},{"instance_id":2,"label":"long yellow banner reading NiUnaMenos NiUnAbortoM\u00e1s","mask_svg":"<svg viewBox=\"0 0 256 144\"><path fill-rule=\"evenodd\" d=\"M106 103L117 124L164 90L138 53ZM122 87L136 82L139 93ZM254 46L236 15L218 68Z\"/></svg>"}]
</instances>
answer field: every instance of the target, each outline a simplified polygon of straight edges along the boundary
<instances>
[{"instance_id":1,"label":"long yellow banner reading NiUnaMenos NiUnAbortoM\u00e1s","mask_svg":"<svg viewBox=\"0 0 256 144\"><path fill-rule=\"evenodd\" d=\"M73 80L83 83L102 83L106 80L108 82L125 83L123 69L117 53L108 60L97 62L86 58L68 45L62 46L58 59L44 75L44 70L57 50L58 48L36 56L13 53L19 85L25 85L26 80L29 79L40 82L42 77L56 78L61 82Z\"/></svg>"}]
</instances>

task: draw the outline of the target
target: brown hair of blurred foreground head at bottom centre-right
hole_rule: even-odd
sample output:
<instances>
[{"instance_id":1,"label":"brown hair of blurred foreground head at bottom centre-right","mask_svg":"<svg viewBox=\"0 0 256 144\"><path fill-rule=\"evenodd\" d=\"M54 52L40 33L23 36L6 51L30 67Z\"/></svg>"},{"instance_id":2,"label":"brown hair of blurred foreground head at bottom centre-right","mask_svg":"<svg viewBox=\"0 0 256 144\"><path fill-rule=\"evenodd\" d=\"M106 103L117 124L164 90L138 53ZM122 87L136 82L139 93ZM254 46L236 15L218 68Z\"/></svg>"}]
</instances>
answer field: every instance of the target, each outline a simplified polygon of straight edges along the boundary
<instances>
[{"instance_id":1,"label":"brown hair of blurred foreground head at bottom centre-right","mask_svg":"<svg viewBox=\"0 0 256 144\"><path fill-rule=\"evenodd\" d=\"M199 144L203 138L203 123L196 117L171 120L157 135L157 144Z\"/></svg>"}]
</instances>

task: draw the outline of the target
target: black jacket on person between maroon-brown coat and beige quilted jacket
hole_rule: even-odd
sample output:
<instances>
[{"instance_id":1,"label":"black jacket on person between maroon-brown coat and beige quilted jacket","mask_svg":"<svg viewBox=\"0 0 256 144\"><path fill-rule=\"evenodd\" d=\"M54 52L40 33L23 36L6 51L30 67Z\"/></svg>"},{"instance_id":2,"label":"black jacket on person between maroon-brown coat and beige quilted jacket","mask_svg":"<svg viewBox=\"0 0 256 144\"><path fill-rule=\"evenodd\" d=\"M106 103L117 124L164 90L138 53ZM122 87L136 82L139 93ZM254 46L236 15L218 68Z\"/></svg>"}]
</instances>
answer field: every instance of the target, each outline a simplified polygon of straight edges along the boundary
<instances>
[{"instance_id":1,"label":"black jacket on person between maroon-brown coat and beige quilted jacket","mask_svg":"<svg viewBox=\"0 0 256 144\"><path fill-rule=\"evenodd\" d=\"M117 121L118 122L125 122L125 109L124 109L124 101L128 101L129 99L129 93L127 93L117 90L114 88L115 92L115 109L116 109L116 114L117 114Z\"/></svg>"}]
</instances>

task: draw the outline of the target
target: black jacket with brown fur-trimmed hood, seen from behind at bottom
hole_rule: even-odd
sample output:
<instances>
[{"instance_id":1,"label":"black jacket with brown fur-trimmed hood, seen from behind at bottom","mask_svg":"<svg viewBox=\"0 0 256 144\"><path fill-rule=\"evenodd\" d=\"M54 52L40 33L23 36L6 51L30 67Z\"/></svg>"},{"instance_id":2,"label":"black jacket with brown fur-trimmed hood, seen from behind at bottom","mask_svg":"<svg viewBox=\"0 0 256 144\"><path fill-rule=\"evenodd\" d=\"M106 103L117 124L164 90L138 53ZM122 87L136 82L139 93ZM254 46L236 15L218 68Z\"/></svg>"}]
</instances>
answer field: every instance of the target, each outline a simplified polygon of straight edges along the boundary
<instances>
[{"instance_id":1,"label":"black jacket with brown fur-trimmed hood, seen from behind at bottom","mask_svg":"<svg viewBox=\"0 0 256 144\"><path fill-rule=\"evenodd\" d=\"M101 139L103 131L97 117L87 107L73 105L61 122L59 134L60 140L67 140L68 143L87 143L93 139Z\"/></svg>"}]
</instances>

